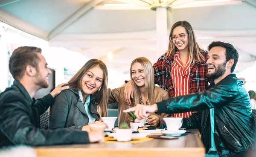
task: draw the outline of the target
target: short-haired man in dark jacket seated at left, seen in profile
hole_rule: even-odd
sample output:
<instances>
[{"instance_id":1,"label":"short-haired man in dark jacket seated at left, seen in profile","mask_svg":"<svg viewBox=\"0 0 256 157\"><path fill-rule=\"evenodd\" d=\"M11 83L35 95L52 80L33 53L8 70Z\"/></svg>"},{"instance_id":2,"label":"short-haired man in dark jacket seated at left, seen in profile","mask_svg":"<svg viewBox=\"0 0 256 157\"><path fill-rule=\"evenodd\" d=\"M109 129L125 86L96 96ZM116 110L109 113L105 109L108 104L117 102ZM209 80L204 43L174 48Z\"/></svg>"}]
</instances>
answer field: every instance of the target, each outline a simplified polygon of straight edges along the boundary
<instances>
[{"instance_id":1,"label":"short-haired man in dark jacket seated at left, seen in profile","mask_svg":"<svg viewBox=\"0 0 256 157\"><path fill-rule=\"evenodd\" d=\"M36 91L49 86L51 70L41 49L19 47L10 60L9 69L15 79L13 85L0 94L0 147L9 145L57 145L72 143L103 142L100 132L40 130L39 119L54 101L61 87L35 100Z\"/></svg>"}]
</instances>

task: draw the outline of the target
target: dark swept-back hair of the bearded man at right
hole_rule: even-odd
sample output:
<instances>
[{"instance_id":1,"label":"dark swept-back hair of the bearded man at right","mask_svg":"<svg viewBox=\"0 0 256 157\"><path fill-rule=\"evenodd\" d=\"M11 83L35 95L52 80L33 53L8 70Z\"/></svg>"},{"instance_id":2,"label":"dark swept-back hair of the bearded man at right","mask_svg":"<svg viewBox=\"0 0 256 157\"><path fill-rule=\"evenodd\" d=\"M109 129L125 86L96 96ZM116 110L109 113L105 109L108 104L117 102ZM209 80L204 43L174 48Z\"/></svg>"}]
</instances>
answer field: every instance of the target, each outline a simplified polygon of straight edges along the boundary
<instances>
[{"instance_id":1,"label":"dark swept-back hair of the bearded man at right","mask_svg":"<svg viewBox=\"0 0 256 157\"><path fill-rule=\"evenodd\" d=\"M208 46L208 50L210 51L212 49L212 47L224 47L226 49L226 61L229 61L230 59L234 59L234 64L231 67L231 73L233 73L235 70L237 61L238 61L238 57L239 57L239 54L238 54L237 50L235 49L235 47L233 47L233 45L231 45L231 44L224 43L221 41L213 41Z\"/></svg>"}]
</instances>

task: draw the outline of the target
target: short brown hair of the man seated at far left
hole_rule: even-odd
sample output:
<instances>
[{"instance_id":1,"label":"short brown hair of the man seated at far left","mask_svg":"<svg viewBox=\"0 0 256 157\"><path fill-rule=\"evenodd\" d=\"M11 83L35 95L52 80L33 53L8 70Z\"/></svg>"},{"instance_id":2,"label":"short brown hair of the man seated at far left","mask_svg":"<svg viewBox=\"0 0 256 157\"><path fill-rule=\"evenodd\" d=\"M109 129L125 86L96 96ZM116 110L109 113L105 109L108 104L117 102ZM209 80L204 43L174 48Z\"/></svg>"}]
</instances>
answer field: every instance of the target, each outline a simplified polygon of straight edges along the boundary
<instances>
[{"instance_id":1,"label":"short brown hair of the man seated at far left","mask_svg":"<svg viewBox=\"0 0 256 157\"><path fill-rule=\"evenodd\" d=\"M15 80L20 80L26 69L31 65L38 71L38 62L40 58L37 53L41 53L42 49L38 47L18 47L12 53L9 60L9 70Z\"/></svg>"}]
</instances>

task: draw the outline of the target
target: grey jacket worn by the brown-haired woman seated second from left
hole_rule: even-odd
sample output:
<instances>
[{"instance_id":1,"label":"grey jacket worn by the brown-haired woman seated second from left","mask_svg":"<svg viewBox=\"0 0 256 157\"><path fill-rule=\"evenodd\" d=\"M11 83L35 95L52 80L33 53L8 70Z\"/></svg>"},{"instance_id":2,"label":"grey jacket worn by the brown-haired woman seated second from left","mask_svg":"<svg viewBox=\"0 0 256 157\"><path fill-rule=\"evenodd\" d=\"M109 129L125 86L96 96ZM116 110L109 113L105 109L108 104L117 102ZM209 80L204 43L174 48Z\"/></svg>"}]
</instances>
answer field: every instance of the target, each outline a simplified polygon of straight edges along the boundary
<instances>
[{"instance_id":1,"label":"grey jacket worn by the brown-haired woman seated second from left","mask_svg":"<svg viewBox=\"0 0 256 157\"><path fill-rule=\"evenodd\" d=\"M90 95L89 110L91 115L98 121L100 116L92 95ZM78 92L67 89L55 97L55 101L50 107L48 129L66 128L81 131L84 125L88 125L88 122L89 118Z\"/></svg>"}]
</instances>

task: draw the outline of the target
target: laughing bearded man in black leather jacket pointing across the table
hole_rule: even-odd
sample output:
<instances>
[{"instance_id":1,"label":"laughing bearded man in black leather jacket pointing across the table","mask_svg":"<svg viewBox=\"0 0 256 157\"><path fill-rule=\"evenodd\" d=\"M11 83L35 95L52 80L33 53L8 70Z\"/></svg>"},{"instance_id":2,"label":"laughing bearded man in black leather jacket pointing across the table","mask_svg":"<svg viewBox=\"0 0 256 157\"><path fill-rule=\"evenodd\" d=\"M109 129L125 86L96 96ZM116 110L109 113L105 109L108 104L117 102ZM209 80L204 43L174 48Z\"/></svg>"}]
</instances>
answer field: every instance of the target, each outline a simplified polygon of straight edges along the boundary
<instances>
[{"instance_id":1,"label":"laughing bearded man in black leather jacket pointing across the table","mask_svg":"<svg viewBox=\"0 0 256 157\"><path fill-rule=\"evenodd\" d=\"M207 155L241 157L245 151L253 149L253 127L249 95L244 83L232 74L238 52L231 44L220 41L212 42L208 49L207 76L214 80L209 90L169 98L153 105L137 105L124 112L135 111L137 119L143 119L153 112L197 110L195 115L183 118L182 127L200 129Z\"/></svg>"}]
</instances>

